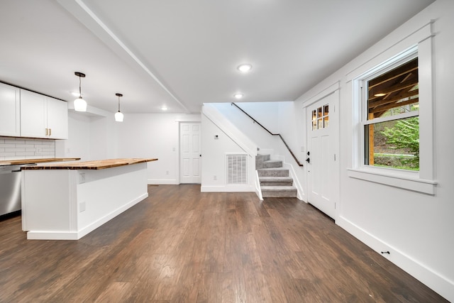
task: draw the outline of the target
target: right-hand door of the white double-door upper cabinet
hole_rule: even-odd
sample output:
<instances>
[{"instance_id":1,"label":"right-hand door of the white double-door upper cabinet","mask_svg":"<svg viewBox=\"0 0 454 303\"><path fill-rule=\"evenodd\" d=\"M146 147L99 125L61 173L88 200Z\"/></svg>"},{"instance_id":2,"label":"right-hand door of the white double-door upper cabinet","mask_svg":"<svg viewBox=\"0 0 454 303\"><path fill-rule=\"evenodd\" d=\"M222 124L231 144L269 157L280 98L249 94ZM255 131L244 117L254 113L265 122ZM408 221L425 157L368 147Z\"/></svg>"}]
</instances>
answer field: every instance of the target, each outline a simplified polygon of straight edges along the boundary
<instances>
[{"instance_id":1,"label":"right-hand door of the white double-door upper cabinet","mask_svg":"<svg viewBox=\"0 0 454 303\"><path fill-rule=\"evenodd\" d=\"M68 104L48 97L48 138L68 138Z\"/></svg>"}]
</instances>

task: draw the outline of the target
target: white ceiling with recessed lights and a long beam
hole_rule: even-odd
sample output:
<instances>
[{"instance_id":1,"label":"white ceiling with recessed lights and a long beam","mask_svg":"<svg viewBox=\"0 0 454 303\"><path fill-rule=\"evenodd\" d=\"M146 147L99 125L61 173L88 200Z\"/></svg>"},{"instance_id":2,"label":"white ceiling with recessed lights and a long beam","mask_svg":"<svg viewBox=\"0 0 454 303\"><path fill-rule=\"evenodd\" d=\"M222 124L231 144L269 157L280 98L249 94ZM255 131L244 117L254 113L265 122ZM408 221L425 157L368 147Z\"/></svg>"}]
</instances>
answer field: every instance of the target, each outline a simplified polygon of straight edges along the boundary
<instances>
[{"instance_id":1,"label":"white ceiling with recessed lights and a long beam","mask_svg":"<svg viewBox=\"0 0 454 303\"><path fill-rule=\"evenodd\" d=\"M292 101L432 2L0 0L0 82L72 101L84 72L89 106L126 114Z\"/></svg>"}]
</instances>

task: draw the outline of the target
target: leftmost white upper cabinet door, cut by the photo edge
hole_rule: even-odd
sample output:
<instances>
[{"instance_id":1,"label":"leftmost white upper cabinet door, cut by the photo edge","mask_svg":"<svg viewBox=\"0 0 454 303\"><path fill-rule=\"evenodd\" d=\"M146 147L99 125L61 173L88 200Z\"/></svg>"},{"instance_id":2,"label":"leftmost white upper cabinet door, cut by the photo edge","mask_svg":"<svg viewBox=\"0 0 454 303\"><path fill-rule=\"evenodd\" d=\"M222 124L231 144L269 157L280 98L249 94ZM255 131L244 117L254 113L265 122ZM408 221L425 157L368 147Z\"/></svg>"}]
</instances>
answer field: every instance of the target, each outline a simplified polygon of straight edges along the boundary
<instances>
[{"instance_id":1,"label":"leftmost white upper cabinet door, cut by the photo edge","mask_svg":"<svg viewBox=\"0 0 454 303\"><path fill-rule=\"evenodd\" d=\"M20 89L0 83L0 136L21 136Z\"/></svg>"}]
</instances>

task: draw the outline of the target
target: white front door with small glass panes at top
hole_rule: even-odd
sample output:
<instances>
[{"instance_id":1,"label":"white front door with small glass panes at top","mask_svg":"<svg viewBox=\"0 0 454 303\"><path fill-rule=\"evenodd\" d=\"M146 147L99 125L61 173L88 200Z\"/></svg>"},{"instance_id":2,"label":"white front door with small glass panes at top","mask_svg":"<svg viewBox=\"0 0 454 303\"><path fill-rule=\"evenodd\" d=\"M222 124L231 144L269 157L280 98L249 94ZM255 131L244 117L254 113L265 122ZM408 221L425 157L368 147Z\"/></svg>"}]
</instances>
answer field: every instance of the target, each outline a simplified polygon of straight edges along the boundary
<instances>
[{"instance_id":1,"label":"white front door with small glass panes at top","mask_svg":"<svg viewBox=\"0 0 454 303\"><path fill-rule=\"evenodd\" d=\"M333 114L331 111L336 104L338 92L316 101L306 108L308 151L307 180L309 203L335 218L336 204L333 189L336 186L336 155L334 151L334 127L331 125Z\"/></svg>"}]
</instances>

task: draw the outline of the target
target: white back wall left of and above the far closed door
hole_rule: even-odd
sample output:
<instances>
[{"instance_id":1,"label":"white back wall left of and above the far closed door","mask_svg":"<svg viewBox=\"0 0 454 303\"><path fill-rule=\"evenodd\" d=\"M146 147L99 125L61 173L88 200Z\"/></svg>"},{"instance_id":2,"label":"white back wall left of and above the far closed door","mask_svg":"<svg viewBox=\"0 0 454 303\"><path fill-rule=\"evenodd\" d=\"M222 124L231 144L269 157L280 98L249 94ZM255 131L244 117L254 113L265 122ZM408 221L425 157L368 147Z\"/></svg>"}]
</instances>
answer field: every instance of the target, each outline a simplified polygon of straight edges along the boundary
<instances>
[{"instance_id":1,"label":"white back wall left of and above the far closed door","mask_svg":"<svg viewBox=\"0 0 454 303\"><path fill-rule=\"evenodd\" d=\"M179 184L179 121L200 115L125 114L116 123L116 158L157 158L148 163L148 184Z\"/></svg>"}]
</instances>

